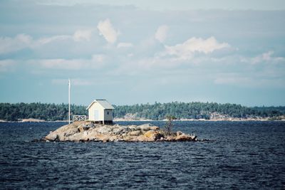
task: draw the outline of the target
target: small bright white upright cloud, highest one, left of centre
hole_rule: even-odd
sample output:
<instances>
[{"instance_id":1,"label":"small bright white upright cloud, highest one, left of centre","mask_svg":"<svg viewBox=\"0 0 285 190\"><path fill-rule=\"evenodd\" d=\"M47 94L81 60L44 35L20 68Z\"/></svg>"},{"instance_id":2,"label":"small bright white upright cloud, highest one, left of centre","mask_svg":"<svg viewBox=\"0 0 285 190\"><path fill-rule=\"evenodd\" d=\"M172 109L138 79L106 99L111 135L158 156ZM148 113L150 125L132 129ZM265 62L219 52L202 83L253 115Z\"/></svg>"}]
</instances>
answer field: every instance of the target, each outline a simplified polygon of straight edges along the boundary
<instances>
[{"instance_id":1,"label":"small bright white upright cloud, highest one, left of centre","mask_svg":"<svg viewBox=\"0 0 285 190\"><path fill-rule=\"evenodd\" d=\"M115 31L109 19L105 19L105 21L100 21L98 23L97 28L100 31L100 35L103 35L105 40L108 41L108 43L115 43L115 41L117 41L119 32Z\"/></svg>"}]
</instances>

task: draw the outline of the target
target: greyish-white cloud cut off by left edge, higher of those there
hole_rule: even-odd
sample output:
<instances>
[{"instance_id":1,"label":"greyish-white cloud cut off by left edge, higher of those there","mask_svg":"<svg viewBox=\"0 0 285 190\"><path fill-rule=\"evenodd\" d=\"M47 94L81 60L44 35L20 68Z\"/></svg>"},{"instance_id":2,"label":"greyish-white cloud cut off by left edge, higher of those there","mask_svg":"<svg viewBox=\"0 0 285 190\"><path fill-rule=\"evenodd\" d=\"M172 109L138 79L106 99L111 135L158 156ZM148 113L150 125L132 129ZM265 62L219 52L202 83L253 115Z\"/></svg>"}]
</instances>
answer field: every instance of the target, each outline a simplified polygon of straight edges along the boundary
<instances>
[{"instance_id":1,"label":"greyish-white cloud cut off by left edge, higher of those there","mask_svg":"<svg viewBox=\"0 0 285 190\"><path fill-rule=\"evenodd\" d=\"M18 34L15 38L0 37L0 54L19 51L32 46L33 38L24 33Z\"/></svg>"}]
</instances>

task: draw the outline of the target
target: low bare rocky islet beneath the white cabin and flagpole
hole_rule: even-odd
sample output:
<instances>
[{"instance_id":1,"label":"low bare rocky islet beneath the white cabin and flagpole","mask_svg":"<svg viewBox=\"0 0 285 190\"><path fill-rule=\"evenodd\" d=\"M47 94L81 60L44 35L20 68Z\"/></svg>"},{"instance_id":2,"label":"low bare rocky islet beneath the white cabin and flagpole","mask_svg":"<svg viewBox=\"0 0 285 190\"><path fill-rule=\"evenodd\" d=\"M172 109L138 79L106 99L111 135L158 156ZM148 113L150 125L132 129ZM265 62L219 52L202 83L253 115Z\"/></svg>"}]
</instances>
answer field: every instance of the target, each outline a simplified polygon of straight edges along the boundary
<instances>
[{"instance_id":1,"label":"low bare rocky islet beneath the white cabin and flagpole","mask_svg":"<svg viewBox=\"0 0 285 190\"><path fill-rule=\"evenodd\" d=\"M46 142L181 142L197 141L194 134L166 132L160 127L145 125L99 125L73 122L43 137Z\"/></svg>"}]
</instances>

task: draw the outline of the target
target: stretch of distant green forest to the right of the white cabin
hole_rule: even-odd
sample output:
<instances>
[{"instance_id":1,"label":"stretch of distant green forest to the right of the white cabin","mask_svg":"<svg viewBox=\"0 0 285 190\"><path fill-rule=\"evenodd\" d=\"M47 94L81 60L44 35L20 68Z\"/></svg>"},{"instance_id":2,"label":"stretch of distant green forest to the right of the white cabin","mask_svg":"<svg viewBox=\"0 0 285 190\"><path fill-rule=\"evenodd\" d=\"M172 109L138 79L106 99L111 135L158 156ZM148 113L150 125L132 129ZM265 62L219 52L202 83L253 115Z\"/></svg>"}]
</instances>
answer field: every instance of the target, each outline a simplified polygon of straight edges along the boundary
<instances>
[{"instance_id":1,"label":"stretch of distant green forest to the right of the white cabin","mask_svg":"<svg viewBox=\"0 0 285 190\"><path fill-rule=\"evenodd\" d=\"M218 104L213 102L170 102L150 105L115 106L115 117L132 114L134 117L150 120L163 120L167 115L177 119L209 120L211 113L216 112L229 117L278 117L285 114L285 106L280 107L245 107L237 104Z\"/></svg>"}]
</instances>

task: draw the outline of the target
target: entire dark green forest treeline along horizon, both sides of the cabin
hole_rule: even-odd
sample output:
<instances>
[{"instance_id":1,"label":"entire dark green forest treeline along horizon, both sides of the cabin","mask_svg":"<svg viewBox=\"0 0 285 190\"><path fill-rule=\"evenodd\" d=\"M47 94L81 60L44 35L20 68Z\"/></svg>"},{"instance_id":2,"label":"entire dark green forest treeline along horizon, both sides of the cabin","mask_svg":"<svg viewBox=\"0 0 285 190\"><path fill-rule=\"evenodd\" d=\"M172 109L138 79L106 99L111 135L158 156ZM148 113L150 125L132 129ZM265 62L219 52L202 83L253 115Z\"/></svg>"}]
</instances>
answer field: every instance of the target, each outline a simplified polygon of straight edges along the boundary
<instances>
[{"instance_id":1,"label":"entire dark green forest treeline along horizon, both sides of the cabin","mask_svg":"<svg viewBox=\"0 0 285 190\"><path fill-rule=\"evenodd\" d=\"M213 112L229 117L278 117L285 115L285 107L245 107L236 104L213 102L170 102L140 105L115 106L114 117L133 117L149 120L163 120L167 115L177 119L206 119ZM88 115L86 106L71 105L71 115ZM46 103L0 103L0 120L16 121L34 118L39 120L68 120L67 104Z\"/></svg>"}]
</instances>

